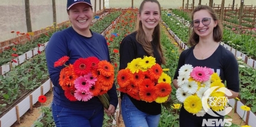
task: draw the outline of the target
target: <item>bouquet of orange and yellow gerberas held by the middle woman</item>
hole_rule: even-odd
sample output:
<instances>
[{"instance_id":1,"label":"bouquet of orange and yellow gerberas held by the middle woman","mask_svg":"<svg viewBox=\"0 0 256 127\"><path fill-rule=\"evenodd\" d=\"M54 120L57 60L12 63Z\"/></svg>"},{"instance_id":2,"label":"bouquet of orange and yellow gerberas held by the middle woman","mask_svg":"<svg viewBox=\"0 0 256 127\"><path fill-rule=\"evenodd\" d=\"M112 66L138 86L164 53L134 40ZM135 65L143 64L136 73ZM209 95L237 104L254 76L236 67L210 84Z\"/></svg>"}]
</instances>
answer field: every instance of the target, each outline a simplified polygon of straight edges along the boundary
<instances>
[{"instance_id":1,"label":"bouquet of orange and yellow gerberas held by the middle woman","mask_svg":"<svg viewBox=\"0 0 256 127\"><path fill-rule=\"evenodd\" d=\"M171 94L171 77L152 56L133 59L126 69L118 72L117 83L119 91L149 103L167 102ZM168 107L171 108L171 104Z\"/></svg>"}]
</instances>

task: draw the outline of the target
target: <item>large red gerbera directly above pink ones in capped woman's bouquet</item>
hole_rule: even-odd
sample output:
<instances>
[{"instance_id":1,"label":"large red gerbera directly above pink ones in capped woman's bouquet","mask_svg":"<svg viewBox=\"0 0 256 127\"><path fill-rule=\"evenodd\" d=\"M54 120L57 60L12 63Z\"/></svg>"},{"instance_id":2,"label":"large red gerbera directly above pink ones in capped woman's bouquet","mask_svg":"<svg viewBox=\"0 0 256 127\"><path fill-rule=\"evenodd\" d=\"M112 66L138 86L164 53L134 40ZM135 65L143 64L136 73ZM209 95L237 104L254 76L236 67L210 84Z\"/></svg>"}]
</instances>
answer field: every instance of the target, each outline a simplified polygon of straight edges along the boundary
<instances>
[{"instance_id":1,"label":"large red gerbera directly above pink ones in capped woman's bouquet","mask_svg":"<svg viewBox=\"0 0 256 127\"><path fill-rule=\"evenodd\" d=\"M74 62L74 72L77 75L85 75L91 70L91 63L86 58L79 58Z\"/></svg>"}]
</instances>

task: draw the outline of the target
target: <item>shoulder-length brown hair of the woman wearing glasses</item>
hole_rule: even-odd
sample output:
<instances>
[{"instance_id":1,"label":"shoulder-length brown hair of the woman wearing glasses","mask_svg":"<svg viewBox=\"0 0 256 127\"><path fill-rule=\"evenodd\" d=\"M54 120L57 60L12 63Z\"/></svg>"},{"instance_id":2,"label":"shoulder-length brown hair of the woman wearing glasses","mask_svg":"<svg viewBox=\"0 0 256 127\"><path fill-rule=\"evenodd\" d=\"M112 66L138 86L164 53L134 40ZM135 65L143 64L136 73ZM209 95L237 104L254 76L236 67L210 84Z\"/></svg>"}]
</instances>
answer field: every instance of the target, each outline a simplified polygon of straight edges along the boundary
<instances>
[{"instance_id":1,"label":"shoulder-length brown hair of the woman wearing glasses","mask_svg":"<svg viewBox=\"0 0 256 127\"><path fill-rule=\"evenodd\" d=\"M221 41L222 37L223 37L222 24L221 24L220 20L218 19L217 15L216 15L216 13L215 13L215 11L213 10L212 7L209 7L209 6L206 6L206 5L198 5L193 10L191 19L193 20L194 13L197 12L197 11L200 11L200 10L207 10L210 13L210 15L212 16L213 20L218 22L216 27L213 28L213 40L215 42ZM191 32L191 30L192 30L192 32ZM192 23L190 24L189 33L190 33L190 38L189 38L188 43L189 43L190 46L194 46L199 42L199 36L194 32Z\"/></svg>"}]
</instances>

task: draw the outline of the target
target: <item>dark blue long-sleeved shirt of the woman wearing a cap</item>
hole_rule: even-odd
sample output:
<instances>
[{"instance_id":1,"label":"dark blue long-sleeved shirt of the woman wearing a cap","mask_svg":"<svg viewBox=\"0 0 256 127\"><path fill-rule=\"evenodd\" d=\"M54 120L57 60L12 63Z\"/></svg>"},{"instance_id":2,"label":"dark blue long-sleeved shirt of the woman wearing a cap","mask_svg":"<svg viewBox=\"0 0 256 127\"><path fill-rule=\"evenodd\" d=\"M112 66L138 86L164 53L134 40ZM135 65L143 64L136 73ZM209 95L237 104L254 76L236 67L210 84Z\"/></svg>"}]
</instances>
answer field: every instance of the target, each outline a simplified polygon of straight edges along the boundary
<instances>
[{"instance_id":1,"label":"dark blue long-sleeved shirt of the woman wearing a cap","mask_svg":"<svg viewBox=\"0 0 256 127\"><path fill-rule=\"evenodd\" d=\"M67 64L73 64L78 58L86 58L89 56L95 56L100 60L110 61L107 41L104 36L91 32L91 37L85 37L78 34L72 27L69 27L63 31L54 33L45 49L46 62L50 79L54 85L53 87L53 103L70 109L95 109L99 106L103 106L98 97L93 97L90 100L84 101L69 101L65 95L64 90L59 84L60 72L62 67L55 68L54 62L63 57L69 56ZM117 107L118 99L116 86L107 92L110 97L110 104Z\"/></svg>"}]
</instances>

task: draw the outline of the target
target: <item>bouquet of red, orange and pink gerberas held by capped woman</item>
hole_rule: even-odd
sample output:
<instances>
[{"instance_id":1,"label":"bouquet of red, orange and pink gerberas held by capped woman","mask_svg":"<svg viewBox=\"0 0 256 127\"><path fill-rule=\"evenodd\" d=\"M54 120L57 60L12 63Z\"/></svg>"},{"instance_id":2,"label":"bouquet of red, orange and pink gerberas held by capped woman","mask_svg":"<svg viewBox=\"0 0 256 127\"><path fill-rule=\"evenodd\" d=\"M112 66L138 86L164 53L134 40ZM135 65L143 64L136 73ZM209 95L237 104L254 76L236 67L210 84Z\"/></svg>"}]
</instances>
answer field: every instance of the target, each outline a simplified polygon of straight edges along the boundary
<instances>
[{"instance_id":1,"label":"bouquet of red, orange and pink gerberas held by capped woman","mask_svg":"<svg viewBox=\"0 0 256 127\"><path fill-rule=\"evenodd\" d=\"M107 91L114 83L114 67L97 57L79 58L74 64L65 65L68 56L54 63L54 67L65 66L60 73L59 84L70 101L88 101L98 96L106 109L109 107Z\"/></svg>"}]
</instances>

